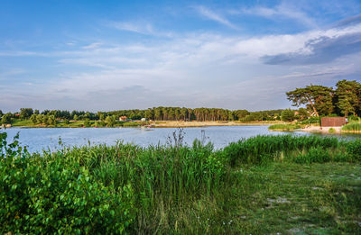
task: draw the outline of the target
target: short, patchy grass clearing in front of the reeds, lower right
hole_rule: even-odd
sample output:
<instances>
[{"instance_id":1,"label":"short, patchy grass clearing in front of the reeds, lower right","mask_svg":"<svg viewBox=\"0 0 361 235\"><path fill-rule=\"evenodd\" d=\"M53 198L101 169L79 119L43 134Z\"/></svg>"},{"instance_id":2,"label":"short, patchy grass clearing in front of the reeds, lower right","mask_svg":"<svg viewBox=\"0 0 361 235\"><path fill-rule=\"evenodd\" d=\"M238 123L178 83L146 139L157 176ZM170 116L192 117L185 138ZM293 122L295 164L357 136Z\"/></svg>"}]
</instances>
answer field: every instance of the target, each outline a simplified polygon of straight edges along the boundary
<instances>
[{"instance_id":1,"label":"short, patchy grass clearing in front of the reeds, lower right","mask_svg":"<svg viewBox=\"0 0 361 235\"><path fill-rule=\"evenodd\" d=\"M174 214L179 218L178 226L187 224L182 232L361 232L359 165L273 163L266 167L240 167L231 176L233 185L218 191L213 200L200 198L184 212Z\"/></svg>"}]
</instances>

